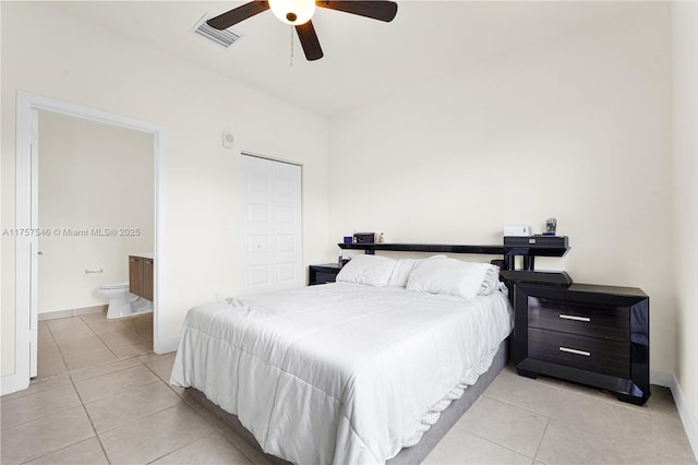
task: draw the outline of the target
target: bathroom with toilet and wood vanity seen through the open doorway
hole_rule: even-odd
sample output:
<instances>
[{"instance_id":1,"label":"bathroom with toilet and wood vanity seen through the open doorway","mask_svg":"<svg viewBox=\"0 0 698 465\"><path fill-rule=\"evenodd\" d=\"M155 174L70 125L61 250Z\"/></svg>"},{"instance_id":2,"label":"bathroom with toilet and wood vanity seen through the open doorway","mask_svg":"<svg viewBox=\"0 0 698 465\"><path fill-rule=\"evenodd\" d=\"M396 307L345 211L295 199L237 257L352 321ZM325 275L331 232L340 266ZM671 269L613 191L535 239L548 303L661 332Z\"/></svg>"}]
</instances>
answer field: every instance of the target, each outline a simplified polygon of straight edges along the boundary
<instances>
[{"instance_id":1,"label":"bathroom with toilet and wood vanity seen through the open doorway","mask_svg":"<svg viewBox=\"0 0 698 465\"><path fill-rule=\"evenodd\" d=\"M129 269L153 276L153 134L44 110L38 128L38 375L152 351Z\"/></svg>"}]
</instances>

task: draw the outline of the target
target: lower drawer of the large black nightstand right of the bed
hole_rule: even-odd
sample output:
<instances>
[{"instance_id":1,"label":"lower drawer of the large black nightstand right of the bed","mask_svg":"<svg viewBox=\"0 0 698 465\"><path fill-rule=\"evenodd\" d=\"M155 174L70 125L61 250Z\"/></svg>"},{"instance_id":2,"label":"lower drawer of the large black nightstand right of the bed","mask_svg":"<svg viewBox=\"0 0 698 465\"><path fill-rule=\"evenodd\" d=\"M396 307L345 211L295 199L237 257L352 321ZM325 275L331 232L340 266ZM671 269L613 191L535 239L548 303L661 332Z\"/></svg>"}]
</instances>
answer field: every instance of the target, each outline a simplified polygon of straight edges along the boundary
<instances>
[{"instance_id":1,"label":"lower drawer of the large black nightstand right of the bed","mask_svg":"<svg viewBox=\"0 0 698 465\"><path fill-rule=\"evenodd\" d=\"M618 378L630 375L630 343L528 330L529 357Z\"/></svg>"}]
</instances>

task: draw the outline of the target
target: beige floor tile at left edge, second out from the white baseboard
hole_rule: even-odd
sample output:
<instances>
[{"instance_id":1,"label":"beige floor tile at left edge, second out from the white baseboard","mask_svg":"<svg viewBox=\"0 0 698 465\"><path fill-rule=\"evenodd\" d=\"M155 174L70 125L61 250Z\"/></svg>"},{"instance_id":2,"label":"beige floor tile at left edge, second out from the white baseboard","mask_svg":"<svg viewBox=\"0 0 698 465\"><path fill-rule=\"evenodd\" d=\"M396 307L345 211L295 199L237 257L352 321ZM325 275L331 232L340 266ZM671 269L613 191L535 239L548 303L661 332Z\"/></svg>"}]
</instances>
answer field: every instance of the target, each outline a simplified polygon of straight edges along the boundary
<instances>
[{"instance_id":1,"label":"beige floor tile at left edge, second out from the white baseboard","mask_svg":"<svg viewBox=\"0 0 698 465\"><path fill-rule=\"evenodd\" d=\"M0 462L3 465L24 463L94 436L81 405L3 430Z\"/></svg>"}]
</instances>

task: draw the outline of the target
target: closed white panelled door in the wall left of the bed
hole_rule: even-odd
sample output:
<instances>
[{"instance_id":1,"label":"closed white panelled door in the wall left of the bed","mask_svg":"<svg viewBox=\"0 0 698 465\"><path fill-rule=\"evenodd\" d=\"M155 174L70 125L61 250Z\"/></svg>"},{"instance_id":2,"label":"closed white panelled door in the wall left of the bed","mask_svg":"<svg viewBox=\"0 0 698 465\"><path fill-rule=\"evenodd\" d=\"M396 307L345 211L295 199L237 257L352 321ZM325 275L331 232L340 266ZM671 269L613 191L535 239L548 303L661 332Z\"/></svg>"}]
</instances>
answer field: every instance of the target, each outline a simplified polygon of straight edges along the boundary
<instances>
[{"instance_id":1,"label":"closed white panelled door in the wall left of the bed","mask_svg":"<svg viewBox=\"0 0 698 465\"><path fill-rule=\"evenodd\" d=\"M300 287L301 167L251 155L241 165L243 290Z\"/></svg>"}]
</instances>

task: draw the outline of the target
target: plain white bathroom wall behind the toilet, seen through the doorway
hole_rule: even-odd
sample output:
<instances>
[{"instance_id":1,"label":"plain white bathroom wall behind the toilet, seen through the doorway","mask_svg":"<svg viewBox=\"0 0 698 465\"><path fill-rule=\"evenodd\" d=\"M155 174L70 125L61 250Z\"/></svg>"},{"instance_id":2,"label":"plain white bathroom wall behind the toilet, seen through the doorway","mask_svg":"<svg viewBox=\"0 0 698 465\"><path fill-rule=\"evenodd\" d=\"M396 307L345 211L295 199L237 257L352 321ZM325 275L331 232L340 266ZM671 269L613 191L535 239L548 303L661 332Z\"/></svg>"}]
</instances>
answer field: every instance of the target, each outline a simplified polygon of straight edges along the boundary
<instances>
[{"instance_id":1,"label":"plain white bathroom wall behind the toilet, seen through the doorway","mask_svg":"<svg viewBox=\"0 0 698 465\"><path fill-rule=\"evenodd\" d=\"M39 111L38 166L38 226L52 231L38 240L38 312L108 303L97 287L154 251L153 134Z\"/></svg>"}]
</instances>

